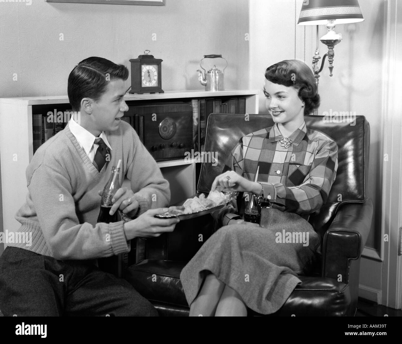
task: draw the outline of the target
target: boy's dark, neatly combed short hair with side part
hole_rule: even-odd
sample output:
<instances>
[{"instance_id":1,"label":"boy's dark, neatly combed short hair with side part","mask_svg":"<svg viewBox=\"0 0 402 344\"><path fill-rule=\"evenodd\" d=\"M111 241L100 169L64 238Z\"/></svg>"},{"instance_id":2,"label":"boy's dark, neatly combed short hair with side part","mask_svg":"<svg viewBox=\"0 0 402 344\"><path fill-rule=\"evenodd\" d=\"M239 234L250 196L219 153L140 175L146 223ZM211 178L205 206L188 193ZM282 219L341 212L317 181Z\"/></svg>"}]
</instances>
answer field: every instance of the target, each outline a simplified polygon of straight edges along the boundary
<instances>
[{"instance_id":1,"label":"boy's dark, neatly combed short hair with side part","mask_svg":"<svg viewBox=\"0 0 402 344\"><path fill-rule=\"evenodd\" d=\"M109 80L127 80L126 66L102 57L88 57L78 63L68 76L67 93L73 111L80 111L82 98L98 101L106 92Z\"/></svg>"}]
</instances>

